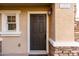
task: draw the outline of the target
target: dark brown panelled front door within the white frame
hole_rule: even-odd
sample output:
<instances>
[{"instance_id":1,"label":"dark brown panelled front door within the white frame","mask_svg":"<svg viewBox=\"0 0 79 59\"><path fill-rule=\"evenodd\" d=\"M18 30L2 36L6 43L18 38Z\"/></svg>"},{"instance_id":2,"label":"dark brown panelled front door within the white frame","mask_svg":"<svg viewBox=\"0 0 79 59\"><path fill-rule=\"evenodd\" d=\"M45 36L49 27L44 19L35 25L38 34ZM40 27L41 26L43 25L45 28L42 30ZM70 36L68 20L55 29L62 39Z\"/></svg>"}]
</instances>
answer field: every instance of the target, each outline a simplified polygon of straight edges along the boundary
<instances>
[{"instance_id":1,"label":"dark brown panelled front door within the white frame","mask_svg":"<svg viewBox=\"0 0 79 59\"><path fill-rule=\"evenodd\" d=\"M46 14L30 14L30 50L46 50Z\"/></svg>"}]
</instances>

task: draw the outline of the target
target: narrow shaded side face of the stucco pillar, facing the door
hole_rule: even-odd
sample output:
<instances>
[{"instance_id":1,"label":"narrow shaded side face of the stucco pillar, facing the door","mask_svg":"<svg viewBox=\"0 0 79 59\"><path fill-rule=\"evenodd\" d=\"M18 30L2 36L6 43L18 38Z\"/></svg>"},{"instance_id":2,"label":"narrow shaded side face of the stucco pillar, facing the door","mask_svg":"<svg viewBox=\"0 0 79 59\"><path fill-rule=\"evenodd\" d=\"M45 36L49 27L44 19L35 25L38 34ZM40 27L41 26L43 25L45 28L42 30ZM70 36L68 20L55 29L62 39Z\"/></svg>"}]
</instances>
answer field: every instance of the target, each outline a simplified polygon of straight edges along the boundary
<instances>
[{"instance_id":1,"label":"narrow shaded side face of the stucco pillar, facing the door","mask_svg":"<svg viewBox=\"0 0 79 59\"><path fill-rule=\"evenodd\" d=\"M50 32L50 39L55 41L55 4L51 5L52 7L52 14L49 19L49 32Z\"/></svg>"}]
</instances>

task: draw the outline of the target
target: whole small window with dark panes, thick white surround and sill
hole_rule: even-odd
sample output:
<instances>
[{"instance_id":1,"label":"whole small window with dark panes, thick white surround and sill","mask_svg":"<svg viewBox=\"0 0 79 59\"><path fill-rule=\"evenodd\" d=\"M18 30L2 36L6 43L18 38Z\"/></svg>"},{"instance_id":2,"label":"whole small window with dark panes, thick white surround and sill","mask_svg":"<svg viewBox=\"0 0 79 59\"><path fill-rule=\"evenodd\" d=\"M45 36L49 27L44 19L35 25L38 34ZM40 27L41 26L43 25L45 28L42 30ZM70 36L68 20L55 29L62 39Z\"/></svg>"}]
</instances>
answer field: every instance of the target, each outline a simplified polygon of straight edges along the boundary
<instances>
[{"instance_id":1,"label":"whole small window with dark panes, thick white surround and sill","mask_svg":"<svg viewBox=\"0 0 79 59\"><path fill-rule=\"evenodd\" d=\"M3 36L16 36L20 32L19 16L20 11L3 10L2 15L2 32Z\"/></svg>"}]
</instances>

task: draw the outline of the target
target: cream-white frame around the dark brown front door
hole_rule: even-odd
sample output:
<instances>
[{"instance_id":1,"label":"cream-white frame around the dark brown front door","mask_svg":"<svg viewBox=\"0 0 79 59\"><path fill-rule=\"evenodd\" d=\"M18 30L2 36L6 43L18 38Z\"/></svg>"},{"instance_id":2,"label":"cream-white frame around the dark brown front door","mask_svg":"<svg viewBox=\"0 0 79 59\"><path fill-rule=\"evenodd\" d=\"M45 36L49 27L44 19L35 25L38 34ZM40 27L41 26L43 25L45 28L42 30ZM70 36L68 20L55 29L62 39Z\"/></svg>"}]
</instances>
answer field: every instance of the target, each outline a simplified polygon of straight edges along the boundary
<instances>
[{"instance_id":1,"label":"cream-white frame around the dark brown front door","mask_svg":"<svg viewBox=\"0 0 79 59\"><path fill-rule=\"evenodd\" d=\"M28 35L28 54L31 54L30 50L30 14L46 14L46 53L48 53L48 38L49 38L49 21L47 11L28 11L27 18L27 35ZM35 51L35 50L34 50ZM40 50L41 51L41 50Z\"/></svg>"}]
</instances>

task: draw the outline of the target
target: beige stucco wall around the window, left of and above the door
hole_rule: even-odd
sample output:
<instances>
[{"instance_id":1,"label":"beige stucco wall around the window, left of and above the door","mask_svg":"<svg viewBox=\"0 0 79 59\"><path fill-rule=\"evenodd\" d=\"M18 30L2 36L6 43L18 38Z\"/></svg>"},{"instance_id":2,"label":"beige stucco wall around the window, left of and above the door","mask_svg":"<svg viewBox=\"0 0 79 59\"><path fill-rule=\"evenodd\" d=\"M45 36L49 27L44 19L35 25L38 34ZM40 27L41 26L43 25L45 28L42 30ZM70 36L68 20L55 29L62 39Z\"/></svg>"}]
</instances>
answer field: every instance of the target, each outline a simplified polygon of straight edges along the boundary
<instances>
[{"instance_id":1,"label":"beige stucco wall around the window, left of and above the door","mask_svg":"<svg viewBox=\"0 0 79 59\"><path fill-rule=\"evenodd\" d=\"M20 36L0 36L2 41L3 54L28 54L28 35L27 35L27 12L28 11L47 11L48 6L37 7L0 7L0 10L20 10ZM21 44L18 47L18 44Z\"/></svg>"}]
</instances>

